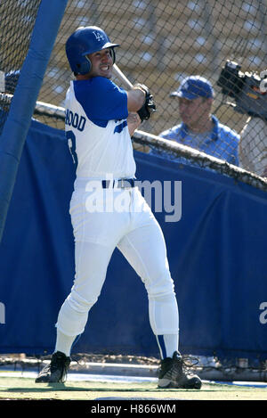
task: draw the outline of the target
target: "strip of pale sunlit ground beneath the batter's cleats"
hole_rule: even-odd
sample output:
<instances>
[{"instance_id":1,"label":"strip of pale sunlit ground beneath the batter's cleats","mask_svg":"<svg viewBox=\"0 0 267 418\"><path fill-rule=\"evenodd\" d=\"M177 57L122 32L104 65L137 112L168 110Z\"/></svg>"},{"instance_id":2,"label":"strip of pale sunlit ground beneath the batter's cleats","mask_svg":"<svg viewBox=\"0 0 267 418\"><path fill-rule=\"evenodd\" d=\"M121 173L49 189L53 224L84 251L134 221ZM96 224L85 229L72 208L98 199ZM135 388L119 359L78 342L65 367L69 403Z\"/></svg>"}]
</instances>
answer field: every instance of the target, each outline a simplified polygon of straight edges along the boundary
<instances>
[{"instance_id":1,"label":"strip of pale sunlit ground beneath the batter's cleats","mask_svg":"<svg viewBox=\"0 0 267 418\"><path fill-rule=\"evenodd\" d=\"M266 400L267 388L204 383L196 389L158 389L156 382L121 383L103 381L66 381L38 383L23 377L1 377L0 400L101 400L101 399L174 399L174 400Z\"/></svg>"}]
</instances>

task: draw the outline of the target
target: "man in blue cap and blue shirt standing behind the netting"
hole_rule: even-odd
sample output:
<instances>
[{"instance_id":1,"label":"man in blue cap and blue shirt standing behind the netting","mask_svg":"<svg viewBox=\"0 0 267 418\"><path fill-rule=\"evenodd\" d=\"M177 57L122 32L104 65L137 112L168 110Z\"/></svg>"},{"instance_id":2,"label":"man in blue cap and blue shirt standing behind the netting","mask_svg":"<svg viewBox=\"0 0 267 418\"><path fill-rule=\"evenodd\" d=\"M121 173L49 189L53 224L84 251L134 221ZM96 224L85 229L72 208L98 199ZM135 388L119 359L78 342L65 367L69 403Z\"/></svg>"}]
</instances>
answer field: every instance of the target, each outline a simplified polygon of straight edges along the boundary
<instances>
[{"instance_id":1,"label":"man in blue cap and blue shirt standing behind the netting","mask_svg":"<svg viewBox=\"0 0 267 418\"><path fill-rule=\"evenodd\" d=\"M159 136L239 166L239 135L211 113L214 102L211 83L206 78L191 76L170 96L178 98L182 123Z\"/></svg>"}]
</instances>

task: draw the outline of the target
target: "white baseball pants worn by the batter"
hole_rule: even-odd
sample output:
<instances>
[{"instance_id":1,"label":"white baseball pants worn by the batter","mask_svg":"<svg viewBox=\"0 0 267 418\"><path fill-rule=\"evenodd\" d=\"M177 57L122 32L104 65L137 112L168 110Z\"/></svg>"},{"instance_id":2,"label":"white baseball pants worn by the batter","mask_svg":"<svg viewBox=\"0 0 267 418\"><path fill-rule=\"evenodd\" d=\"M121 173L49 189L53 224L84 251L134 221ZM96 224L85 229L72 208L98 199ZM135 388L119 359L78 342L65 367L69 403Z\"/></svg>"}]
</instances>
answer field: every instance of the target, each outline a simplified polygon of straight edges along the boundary
<instances>
[{"instance_id":1,"label":"white baseball pants worn by the batter","mask_svg":"<svg viewBox=\"0 0 267 418\"><path fill-rule=\"evenodd\" d=\"M69 336L84 332L88 313L101 294L109 260L117 247L148 292L154 334L177 334L178 307L165 239L138 188L92 190L84 181L77 180L70 215L76 275L61 307L57 328Z\"/></svg>"}]
</instances>

